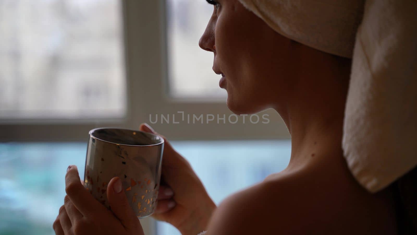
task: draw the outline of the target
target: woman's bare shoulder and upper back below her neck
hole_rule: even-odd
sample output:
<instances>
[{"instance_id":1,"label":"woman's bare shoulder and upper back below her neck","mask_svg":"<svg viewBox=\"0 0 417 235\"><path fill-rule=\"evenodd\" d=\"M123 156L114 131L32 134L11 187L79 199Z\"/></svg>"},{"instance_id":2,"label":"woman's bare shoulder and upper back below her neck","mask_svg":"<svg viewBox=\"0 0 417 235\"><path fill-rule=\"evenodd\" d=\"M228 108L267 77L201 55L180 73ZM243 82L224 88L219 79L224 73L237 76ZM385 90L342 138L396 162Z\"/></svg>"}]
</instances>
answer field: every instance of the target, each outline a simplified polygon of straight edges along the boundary
<instances>
[{"instance_id":1,"label":"woman's bare shoulder and upper back below her neck","mask_svg":"<svg viewBox=\"0 0 417 235\"><path fill-rule=\"evenodd\" d=\"M340 171L268 177L226 198L211 218L208 235L395 234L389 203Z\"/></svg>"}]
</instances>

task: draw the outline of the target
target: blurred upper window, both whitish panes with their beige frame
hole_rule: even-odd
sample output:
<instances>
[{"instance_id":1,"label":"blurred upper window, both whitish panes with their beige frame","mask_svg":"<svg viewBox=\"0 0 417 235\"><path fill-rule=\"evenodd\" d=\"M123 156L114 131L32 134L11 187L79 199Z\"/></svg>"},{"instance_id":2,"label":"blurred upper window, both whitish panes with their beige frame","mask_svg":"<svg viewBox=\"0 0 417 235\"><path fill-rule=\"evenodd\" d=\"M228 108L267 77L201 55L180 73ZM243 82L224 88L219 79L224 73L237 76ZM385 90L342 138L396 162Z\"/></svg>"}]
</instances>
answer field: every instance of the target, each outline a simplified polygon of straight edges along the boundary
<instances>
[{"instance_id":1,"label":"blurred upper window, both whitish panes with their beige frame","mask_svg":"<svg viewBox=\"0 0 417 235\"><path fill-rule=\"evenodd\" d=\"M170 139L288 138L273 110L261 114L268 125L249 117L229 121L213 54L198 47L213 8L203 0L7 0L1 6L16 15L1 23L9 38L2 47L30 62L13 64L15 54L0 51L2 61L10 60L0 72L0 141L84 141L90 129L138 128L155 116L153 127ZM43 30L23 28L22 37L13 22ZM25 40L41 43L13 47ZM161 115L170 121L161 122ZM181 115L203 118L174 124Z\"/></svg>"}]
</instances>

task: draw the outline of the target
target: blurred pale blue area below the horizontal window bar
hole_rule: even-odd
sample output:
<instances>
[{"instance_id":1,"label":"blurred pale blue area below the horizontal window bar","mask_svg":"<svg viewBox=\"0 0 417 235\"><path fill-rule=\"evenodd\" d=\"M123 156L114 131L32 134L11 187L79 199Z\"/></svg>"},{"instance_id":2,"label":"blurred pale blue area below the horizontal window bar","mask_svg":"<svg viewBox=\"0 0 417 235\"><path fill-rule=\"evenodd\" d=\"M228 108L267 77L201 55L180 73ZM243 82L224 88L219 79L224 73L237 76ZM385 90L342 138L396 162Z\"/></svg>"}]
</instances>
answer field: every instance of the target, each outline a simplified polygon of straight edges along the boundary
<instances>
[{"instance_id":1,"label":"blurred pale blue area below the horizontal window bar","mask_svg":"<svg viewBox=\"0 0 417 235\"><path fill-rule=\"evenodd\" d=\"M289 140L174 141L213 200L283 170ZM84 175L86 143L0 144L0 235L53 235L52 224L65 196L65 173L75 164ZM180 234L157 223L158 235Z\"/></svg>"}]
</instances>

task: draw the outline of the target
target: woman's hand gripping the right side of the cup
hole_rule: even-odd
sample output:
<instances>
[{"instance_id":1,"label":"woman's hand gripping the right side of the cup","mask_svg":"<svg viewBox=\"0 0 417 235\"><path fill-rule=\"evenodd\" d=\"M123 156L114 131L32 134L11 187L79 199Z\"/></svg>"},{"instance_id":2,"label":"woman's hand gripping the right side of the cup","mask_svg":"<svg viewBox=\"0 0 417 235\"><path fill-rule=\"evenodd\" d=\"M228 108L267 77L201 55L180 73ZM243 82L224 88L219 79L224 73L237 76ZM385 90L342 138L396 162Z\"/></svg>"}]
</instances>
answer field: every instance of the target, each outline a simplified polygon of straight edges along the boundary
<instances>
[{"instance_id":1,"label":"woman's hand gripping the right side of the cup","mask_svg":"<svg viewBox=\"0 0 417 235\"><path fill-rule=\"evenodd\" d=\"M146 123L140 130L158 134ZM188 161L163 138L162 179L158 205L152 216L170 223L182 235L197 235L206 230L216 205Z\"/></svg>"}]
</instances>

